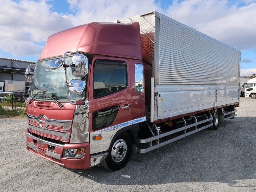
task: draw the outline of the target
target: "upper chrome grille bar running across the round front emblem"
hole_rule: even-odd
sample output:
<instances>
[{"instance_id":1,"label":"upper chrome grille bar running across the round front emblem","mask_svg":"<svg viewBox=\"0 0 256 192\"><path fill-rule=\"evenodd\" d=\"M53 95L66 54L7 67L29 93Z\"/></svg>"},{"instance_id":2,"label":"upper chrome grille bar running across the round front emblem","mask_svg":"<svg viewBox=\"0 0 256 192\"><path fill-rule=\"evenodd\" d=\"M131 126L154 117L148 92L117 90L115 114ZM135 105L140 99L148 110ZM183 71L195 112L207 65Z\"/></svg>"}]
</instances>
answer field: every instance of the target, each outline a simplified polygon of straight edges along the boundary
<instances>
[{"instance_id":1,"label":"upper chrome grille bar running across the round front emblem","mask_svg":"<svg viewBox=\"0 0 256 192\"><path fill-rule=\"evenodd\" d=\"M34 119L36 122L39 121L39 117L41 117L41 116L42 115L33 116L33 115L30 115L30 114L27 114L28 119L31 119L31 120ZM71 128L72 120L48 119L46 116L44 116L44 118L46 118L46 122L45 122L46 126L45 127L47 127L48 125L55 125L55 126L62 126L63 130L70 130L70 128Z\"/></svg>"}]
</instances>

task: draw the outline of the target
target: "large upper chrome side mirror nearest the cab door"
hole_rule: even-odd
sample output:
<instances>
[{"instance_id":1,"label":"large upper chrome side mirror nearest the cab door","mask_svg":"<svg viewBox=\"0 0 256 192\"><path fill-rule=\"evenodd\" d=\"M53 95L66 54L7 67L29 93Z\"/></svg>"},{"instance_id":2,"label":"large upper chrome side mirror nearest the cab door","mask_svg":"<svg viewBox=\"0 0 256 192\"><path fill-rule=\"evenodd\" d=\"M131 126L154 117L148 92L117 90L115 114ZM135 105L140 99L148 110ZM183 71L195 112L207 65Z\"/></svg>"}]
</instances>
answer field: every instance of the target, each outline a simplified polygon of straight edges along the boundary
<instances>
[{"instance_id":1,"label":"large upper chrome side mirror nearest the cab door","mask_svg":"<svg viewBox=\"0 0 256 192\"><path fill-rule=\"evenodd\" d=\"M84 77L88 74L88 58L82 54L72 56L72 75Z\"/></svg>"}]
</instances>

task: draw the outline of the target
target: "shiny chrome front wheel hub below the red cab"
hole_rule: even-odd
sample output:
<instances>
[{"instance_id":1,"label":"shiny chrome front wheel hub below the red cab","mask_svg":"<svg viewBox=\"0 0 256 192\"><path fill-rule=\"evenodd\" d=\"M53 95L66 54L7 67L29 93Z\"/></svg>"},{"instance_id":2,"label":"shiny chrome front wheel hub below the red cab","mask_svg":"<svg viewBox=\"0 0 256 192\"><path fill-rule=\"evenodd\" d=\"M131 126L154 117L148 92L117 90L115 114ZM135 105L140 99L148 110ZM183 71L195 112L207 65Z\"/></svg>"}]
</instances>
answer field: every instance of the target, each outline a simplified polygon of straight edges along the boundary
<instances>
[{"instance_id":1,"label":"shiny chrome front wheel hub below the red cab","mask_svg":"<svg viewBox=\"0 0 256 192\"><path fill-rule=\"evenodd\" d=\"M127 153L127 144L124 140L117 140L112 146L111 156L114 162L120 162L124 159Z\"/></svg>"}]
</instances>

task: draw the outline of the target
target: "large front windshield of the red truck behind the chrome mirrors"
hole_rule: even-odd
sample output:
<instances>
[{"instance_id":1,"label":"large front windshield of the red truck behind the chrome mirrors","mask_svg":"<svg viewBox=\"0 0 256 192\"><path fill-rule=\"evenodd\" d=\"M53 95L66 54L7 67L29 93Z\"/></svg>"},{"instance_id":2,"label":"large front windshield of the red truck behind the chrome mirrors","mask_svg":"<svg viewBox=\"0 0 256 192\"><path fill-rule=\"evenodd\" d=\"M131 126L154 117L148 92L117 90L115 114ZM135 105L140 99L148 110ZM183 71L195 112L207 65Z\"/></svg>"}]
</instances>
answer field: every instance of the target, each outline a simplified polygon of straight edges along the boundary
<instances>
[{"instance_id":1,"label":"large front windshield of the red truck behind the chrome mirrors","mask_svg":"<svg viewBox=\"0 0 256 192\"><path fill-rule=\"evenodd\" d=\"M66 58L66 63L71 63L72 57ZM51 100L51 98L46 98L44 96L52 96L56 100L68 100L67 89L66 89L66 76L65 70L62 67L56 70L50 70L48 64L51 60L38 62L34 70L33 79L30 88L29 97L33 97L36 93L42 92L42 94L37 94L36 98ZM67 80L70 82L72 78L77 80L85 80L81 77L72 76L72 69L68 67L66 69ZM44 96L42 96L44 95ZM85 92L81 95L70 94L72 100L83 99Z\"/></svg>"}]
</instances>

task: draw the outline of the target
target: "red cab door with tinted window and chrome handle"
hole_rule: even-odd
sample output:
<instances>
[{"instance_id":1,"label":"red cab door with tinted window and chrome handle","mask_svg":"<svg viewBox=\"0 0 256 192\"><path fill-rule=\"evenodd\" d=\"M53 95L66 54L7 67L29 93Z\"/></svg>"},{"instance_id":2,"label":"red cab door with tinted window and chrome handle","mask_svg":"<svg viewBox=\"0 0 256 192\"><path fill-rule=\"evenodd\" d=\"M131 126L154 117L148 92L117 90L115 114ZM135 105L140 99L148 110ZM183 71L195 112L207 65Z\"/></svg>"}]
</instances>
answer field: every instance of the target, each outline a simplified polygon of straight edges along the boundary
<instances>
[{"instance_id":1,"label":"red cab door with tinted window and chrome handle","mask_svg":"<svg viewBox=\"0 0 256 192\"><path fill-rule=\"evenodd\" d=\"M89 84L90 132L131 120L131 85L126 59L96 56Z\"/></svg>"}]
</instances>

